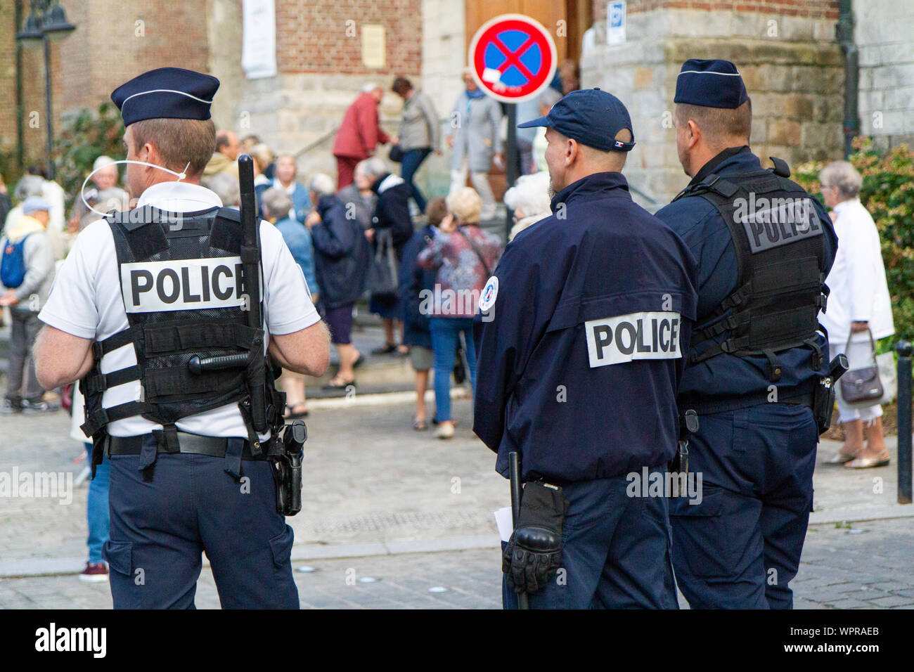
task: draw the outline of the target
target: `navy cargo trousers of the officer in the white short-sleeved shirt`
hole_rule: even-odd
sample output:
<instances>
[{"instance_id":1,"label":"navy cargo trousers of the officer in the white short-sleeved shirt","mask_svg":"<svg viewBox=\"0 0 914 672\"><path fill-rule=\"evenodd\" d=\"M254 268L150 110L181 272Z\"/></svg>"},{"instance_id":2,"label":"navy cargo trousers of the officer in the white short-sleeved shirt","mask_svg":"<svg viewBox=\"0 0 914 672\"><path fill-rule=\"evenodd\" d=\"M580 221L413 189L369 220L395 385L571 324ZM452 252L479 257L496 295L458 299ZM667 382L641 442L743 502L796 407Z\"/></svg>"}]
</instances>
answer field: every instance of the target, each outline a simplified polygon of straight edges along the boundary
<instances>
[{"instance_id":1,"label":"navy cargo trousers of the officer in the white short-sleeved shirt","mask_svg":"<svg viewBox=\"0 0 914 672\"><path fill-rule=\"evenodd\" d=\"M203 552L224 609L299 607L292 528L276 513L269 462L243 460L236 482L224 458L160 453L144 480L140 457L111 458L103 555L115 609L195 608Z\"/></svg>"}]
</instances>

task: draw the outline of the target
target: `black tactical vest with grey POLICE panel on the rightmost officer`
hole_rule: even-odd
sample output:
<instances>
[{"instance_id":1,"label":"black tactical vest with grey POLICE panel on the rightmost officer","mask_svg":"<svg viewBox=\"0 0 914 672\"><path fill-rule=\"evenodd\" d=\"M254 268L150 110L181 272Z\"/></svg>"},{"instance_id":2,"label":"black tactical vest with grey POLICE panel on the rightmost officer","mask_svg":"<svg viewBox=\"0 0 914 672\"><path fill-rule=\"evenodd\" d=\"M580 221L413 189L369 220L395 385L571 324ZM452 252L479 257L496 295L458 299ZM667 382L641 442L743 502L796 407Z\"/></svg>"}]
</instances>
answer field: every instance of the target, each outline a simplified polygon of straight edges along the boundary
<instances>
[{"instance_id":1,"label":"black tactical vest with grey POLICE panel on the rightmost officer","mask_svg":"<svg viewBox=\"0 0 914 672\"><path fill-rule=\"evenodd\" d=\"M777 354L793 347L813 349L813 368L822 367L815 333L828 287L824 272L824 230L812 197L790 179L790 168L775 167L739 176L714 174L687 187L676 200L700 196L727 222L736 250L737 289L692 331L690 364L721 353L764 355L769 379L781 378ZM697 345L727 335L700 354Z\"/></svg>"}]
</instances>

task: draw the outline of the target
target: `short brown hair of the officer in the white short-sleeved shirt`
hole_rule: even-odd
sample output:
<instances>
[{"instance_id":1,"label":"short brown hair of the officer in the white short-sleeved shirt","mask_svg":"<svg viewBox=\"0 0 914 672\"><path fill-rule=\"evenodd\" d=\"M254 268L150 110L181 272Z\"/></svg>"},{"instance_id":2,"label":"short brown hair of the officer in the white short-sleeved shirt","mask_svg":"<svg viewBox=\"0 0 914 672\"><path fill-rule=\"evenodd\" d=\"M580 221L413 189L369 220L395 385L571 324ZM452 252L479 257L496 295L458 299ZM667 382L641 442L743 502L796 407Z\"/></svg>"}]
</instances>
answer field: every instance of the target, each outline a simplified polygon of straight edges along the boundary
<instances>
[{"instance_id":1,"label":"short brown hair of the officer in the white short-sleeved shirt","mask_svg":"<svg viewBox=\"0 0 914 672\"><path fill-rule=\"evenodd\" d=\"M130 124L133 151L143 144L154 144L165 167L187 176L198 177L216 151L216 126L212 119L143 119Z\"/></svg>"}]
</instances>

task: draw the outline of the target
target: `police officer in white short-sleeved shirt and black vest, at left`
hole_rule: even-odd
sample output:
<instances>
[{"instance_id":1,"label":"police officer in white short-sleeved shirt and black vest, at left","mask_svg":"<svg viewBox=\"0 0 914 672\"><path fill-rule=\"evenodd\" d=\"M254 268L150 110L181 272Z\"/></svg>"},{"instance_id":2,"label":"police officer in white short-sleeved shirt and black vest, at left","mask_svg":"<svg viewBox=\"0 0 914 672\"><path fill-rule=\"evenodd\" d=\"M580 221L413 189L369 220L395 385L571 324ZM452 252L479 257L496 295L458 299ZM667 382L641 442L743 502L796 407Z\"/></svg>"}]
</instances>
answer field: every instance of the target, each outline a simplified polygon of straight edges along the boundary
<instances>
[{"instance_id":1,"label":"police officer in white short-sleeved shirt and black vest, at left","mask_svg":"<svg viewBox=\"0 0 914 672\"><path fill-rule=\"evenodd\" d=\"M202 552L223 607L299 605L270 461L283 400L266 351L317 376L328 339L282 236L262 221L266 320L248 325L239 213L199 185L216 147L218 86L160 68L112 93L137 208L80 233L38 315L38 379L48 389L81 379L92 463L111 456L103 556L115 608L193 608ZM243 365L191 366L221 355ZM250 371L261 367L268 432L251 420Z\"/></svg>"}]
</instances>

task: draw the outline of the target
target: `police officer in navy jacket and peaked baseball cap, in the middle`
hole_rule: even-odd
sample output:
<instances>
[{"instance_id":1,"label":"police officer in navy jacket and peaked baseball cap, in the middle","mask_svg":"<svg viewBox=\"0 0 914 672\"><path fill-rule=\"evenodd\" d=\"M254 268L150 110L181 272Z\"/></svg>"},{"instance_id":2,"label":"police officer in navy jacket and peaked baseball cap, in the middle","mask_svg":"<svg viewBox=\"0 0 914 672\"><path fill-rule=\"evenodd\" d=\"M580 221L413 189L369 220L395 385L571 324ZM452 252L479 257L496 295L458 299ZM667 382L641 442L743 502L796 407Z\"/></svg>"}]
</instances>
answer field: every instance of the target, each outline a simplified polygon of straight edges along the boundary
<instances>
[{"instance_id":1,"label":"police officer in navy jacket and peaked baseball cap, in the middle","mask_svg":"<svg viewBox=\"0 0 914 672\"><path fill-rule=\"evenodd\" d=\"M553 214L508 244L480 301L473 431L524 487L506 608L675 608L667 500L696 262L632 202L625 106L574 91L546 117Z\"/></svg>"}]
</instances>

